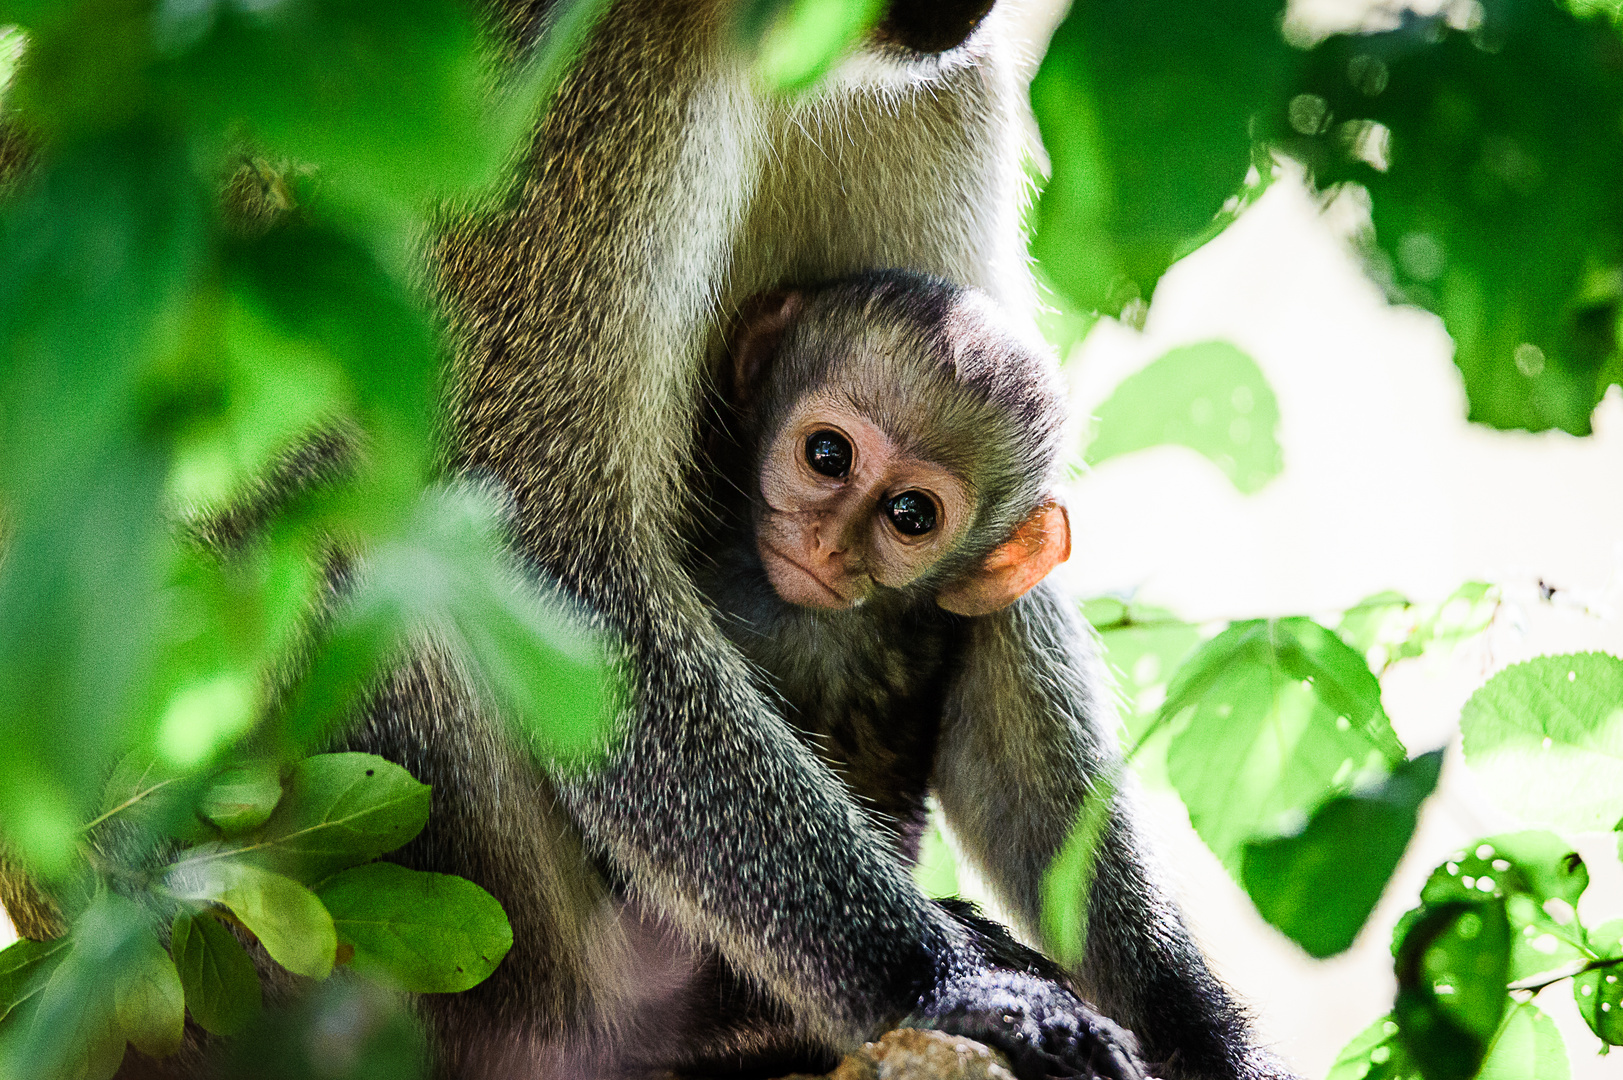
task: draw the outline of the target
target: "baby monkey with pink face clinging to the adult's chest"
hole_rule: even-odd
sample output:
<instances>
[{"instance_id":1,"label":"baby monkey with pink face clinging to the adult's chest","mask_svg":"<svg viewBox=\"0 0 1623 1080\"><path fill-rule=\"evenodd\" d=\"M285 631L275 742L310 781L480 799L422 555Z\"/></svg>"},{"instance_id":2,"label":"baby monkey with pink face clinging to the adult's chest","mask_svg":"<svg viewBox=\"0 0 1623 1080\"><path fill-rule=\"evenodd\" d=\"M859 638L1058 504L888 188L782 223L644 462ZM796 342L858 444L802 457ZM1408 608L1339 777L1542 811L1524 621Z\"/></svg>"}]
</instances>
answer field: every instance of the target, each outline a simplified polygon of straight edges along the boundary
<instances>
[{"instance_id":1,"label":"baby monkey with pink face clinging to the adult's chest","mask_svg":"<svg viewBox=\"0 0 1623 1080\"><path fill-rule=\"evenodd\" d=\"M911 864L967 620L1070 555L1058 378L984 294L899 271L756 297L729 361L695 578Z\"/></svg>"}]
</instances>

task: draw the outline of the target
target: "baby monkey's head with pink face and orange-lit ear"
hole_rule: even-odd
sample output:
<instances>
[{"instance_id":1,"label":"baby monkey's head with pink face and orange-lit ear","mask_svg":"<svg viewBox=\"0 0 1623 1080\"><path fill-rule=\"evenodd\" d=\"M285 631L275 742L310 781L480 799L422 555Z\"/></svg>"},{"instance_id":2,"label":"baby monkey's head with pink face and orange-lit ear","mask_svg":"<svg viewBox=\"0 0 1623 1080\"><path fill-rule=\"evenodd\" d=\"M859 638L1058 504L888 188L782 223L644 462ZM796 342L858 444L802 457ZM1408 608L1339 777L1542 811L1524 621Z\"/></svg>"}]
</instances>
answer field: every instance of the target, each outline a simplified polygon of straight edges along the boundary
<instances>
[{"instance_id":1,"label":"baby monkey's head with pink face and orange-lit ear","mask_svg":"<svg viewBox=\"0 0 1623 1080\"><path fill-rule=\"evenodd\" d=\"M979 616L1070 555L1065 398L982 292L883 271L764 294L729 354L755 541L786 601L911 590Z\"/></svg>"}]
</instances>

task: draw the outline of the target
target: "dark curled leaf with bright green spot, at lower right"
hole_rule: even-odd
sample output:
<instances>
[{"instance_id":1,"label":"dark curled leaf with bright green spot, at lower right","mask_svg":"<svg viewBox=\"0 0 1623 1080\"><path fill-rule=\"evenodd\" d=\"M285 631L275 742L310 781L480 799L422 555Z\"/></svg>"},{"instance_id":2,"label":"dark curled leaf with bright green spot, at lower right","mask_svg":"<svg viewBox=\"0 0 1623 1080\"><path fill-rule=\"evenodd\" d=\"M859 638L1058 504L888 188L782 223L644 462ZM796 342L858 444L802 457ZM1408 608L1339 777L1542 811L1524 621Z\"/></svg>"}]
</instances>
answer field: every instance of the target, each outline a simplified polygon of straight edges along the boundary
<instances>
[{"instance_id":1,"label":"dark curled leaf with bright green spot, at lower right","mask_svg":"<svg viewBox=\"0 0 1623 1080\"><path fill-rule=\"evenodd\" d=\"M1509 1000L1505 901L1427 903L1401 934L1393 1005L1399 1038L1427 1080L1470 1080Z\"/></svg>"}]
</instances>

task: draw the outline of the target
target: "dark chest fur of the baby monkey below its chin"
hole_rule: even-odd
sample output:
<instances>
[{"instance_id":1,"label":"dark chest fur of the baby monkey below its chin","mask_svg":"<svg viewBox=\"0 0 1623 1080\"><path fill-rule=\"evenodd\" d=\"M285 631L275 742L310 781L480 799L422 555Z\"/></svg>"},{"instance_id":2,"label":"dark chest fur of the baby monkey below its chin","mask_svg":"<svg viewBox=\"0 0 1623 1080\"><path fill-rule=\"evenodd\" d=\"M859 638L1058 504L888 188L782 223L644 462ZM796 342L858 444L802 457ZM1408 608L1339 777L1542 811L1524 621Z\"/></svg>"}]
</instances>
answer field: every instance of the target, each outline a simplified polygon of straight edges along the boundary
<instances>
[{"instance_id":1,"label":"dark chest fur of the baby monkey below its chin","mask_svg":"<svg viewBox=\"0 0 1623 1080\"><path fill-rule=\"evenodd\" d=\"M959 620L894 596L850 611L795 607L753 552L709 570L696 577L722 632L782 700L784 719L914 862Z\"/></svg>"}]
</instances>

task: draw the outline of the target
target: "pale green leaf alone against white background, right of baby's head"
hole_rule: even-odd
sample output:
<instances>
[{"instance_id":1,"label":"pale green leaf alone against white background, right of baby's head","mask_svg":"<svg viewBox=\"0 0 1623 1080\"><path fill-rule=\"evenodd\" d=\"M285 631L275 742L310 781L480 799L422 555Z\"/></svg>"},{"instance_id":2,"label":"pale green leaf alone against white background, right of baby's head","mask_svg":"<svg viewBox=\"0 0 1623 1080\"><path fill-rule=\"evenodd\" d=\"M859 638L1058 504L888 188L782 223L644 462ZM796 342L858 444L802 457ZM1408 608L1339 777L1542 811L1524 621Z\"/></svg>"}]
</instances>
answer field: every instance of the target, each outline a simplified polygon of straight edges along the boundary
<instances>
[{"instance_id":1,"label":"pale green leaf alone against white background, right of baby's head","mask_svg":"<svg viewBox=\"0 0 1623 1080\"><path fill-rule=\"evenodd\" d=\"M1099 406L1084 460L1162 443L1204 455L1248 495L1279 476L1279 403L1256 361L1227 341L1167 352Z\"/></svg>"}]
</instances>

